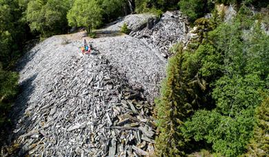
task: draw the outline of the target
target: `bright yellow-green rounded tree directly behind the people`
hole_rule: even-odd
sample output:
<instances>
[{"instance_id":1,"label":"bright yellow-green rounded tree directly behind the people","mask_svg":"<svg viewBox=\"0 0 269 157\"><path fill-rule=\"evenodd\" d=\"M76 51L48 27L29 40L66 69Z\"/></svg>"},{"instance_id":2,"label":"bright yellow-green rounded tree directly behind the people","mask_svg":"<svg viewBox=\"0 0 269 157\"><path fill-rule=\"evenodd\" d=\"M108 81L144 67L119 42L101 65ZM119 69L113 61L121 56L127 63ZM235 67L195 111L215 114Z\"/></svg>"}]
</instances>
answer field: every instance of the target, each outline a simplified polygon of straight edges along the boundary
<instances>
[{"instance_id":1,"label":"bright yellow-green rounded tree directly behind the people","mask_svg":"<svg viewBox=\"0 0 269 157\"><path fill-rule=\"evenodd\" d=\"M74 0L67 18L70 26L86 27L88 33L101 25L103 10L95 0Z\"/></svg>"}]
</instances>

